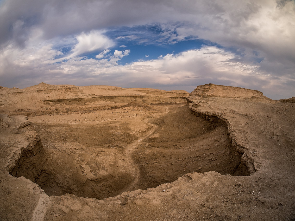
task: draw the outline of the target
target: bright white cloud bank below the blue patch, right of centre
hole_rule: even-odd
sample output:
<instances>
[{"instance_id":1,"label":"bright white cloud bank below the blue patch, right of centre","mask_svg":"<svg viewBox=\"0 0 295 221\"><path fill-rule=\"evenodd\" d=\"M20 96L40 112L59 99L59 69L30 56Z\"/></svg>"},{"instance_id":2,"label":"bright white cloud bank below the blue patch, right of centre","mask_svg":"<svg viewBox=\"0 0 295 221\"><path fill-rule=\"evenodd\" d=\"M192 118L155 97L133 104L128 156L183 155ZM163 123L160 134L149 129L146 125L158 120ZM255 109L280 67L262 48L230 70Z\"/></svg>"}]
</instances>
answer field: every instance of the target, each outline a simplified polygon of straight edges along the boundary
<instances>
[{"instance_id":1,"label":"bright white cloud bank below the blue patch, right of centre","mask_svg":"<svg viewBox=\"0 0 295 221\"><path fill-rule=\"evenodd\" d=\"M150 83L176 84L188 79L227 77L232 83L241 76L257 72L257 65L231 61L236 56L217 47L203 47L177 55L167 54L155 60L126 65L127 70L140 73Z\"/></svg>"}]
</instances>

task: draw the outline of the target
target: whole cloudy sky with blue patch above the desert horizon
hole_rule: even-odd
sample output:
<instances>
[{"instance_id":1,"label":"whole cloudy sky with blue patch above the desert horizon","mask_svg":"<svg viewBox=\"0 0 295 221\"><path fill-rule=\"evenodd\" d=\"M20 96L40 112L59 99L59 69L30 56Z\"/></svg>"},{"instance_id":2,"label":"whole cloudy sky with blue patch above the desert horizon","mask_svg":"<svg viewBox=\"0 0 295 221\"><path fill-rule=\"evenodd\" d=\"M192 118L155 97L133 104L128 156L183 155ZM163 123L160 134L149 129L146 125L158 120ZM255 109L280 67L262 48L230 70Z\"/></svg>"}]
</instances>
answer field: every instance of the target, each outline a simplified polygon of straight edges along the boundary
<instances>
[{"instance_id":1,"label":"whole cloudy sky with blue patch above the desert horizon","mask_svg":"<svg viewBox=\"0 0 295 221\"><path fill-rule=\"evenodd\" d=\"M0 85L295 96L294 0L0 0Z\"/></svg>"}]
</instances>

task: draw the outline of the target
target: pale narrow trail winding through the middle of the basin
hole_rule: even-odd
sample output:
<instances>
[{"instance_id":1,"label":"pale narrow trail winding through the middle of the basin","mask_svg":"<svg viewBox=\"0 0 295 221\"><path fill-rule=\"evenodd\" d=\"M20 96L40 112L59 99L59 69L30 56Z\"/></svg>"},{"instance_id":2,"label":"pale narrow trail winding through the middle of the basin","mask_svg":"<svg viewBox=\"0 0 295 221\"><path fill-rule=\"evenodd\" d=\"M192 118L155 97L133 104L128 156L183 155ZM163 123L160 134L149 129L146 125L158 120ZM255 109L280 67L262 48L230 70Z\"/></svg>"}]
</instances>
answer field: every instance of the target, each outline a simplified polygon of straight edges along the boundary
<instances>
[{"instance_id":1,"label":"pale narrow trail winding through the middle of the basin","mask_svg":"<svg viewBox=\"0 0 295 221\"><path fill-rule=\"evenodd\" d=\"M134 191L136 189L136 184L137 182L139 181L140 179L140 169L139 169L139 165L134 161L134 159L132 158L132 153L135 151L135 149L137 148L137 146L139 146L143 140L145 140L146 138L148 138L149 136L151 136L156 128L158 127L156 124L153 124L153 123L149 123L148 121L150 119L156 119L156 118L159 118L160 116L162 116L163 114L167 114L169 113L169 110L168 110L168 107L166 107L166 112L163 112L163 113L159 113L158 115L153 115L154 118L147 118L145 119L143 122L145 122L146 124L152 126L152 128L150 129L150 131L148 131L148 133L143 136L143 137L140 137L139 139L137 139L136 141L134 141L132 144L130 144L129 146L127 146L127 148L125 149L125 153L126 153L126 156L127 156L127 159L129 159L131 165L133 166L133 181L130 182L130 184L125 187L124 189L122 189L122 193L123 192L127 192L127 191Z\"/></svg>"}]
</instances>

